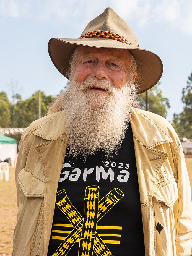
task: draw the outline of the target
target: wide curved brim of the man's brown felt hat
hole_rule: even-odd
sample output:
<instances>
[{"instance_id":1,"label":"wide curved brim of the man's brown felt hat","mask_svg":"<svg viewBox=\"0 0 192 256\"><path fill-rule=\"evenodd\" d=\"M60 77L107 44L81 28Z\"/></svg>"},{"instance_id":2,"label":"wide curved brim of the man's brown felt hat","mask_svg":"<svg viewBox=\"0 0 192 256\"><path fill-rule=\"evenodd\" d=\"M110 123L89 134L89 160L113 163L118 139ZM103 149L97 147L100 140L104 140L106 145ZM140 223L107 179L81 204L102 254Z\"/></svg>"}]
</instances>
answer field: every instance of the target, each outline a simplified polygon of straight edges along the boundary
<instances>
[{"instance_id":1,"label":"wide curved brim of the man's brown felt hat","mask_svg":"<svg viewBox=\"0 0 192 256\"><path fill-rule=\"evenodd\" d=\"M65 77L67 77L71 55L79 45L97 48L128 49L131 51L140 64L140 76L137 80L139 93L152 88L162 76L162 61L157 54L151 51L108 38L51 38L48 43L49 56L58 71Z\"/></svg>"}]
</instances>

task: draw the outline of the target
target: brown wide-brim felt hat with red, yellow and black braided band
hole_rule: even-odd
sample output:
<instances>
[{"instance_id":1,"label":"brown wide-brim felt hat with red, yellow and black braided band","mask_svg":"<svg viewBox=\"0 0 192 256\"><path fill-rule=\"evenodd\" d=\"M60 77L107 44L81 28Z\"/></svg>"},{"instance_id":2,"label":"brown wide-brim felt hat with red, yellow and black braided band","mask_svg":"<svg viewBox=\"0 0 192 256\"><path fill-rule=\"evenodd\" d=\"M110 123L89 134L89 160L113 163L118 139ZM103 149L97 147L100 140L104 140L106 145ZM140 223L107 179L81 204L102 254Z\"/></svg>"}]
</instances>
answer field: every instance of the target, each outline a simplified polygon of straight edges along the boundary
<instances>
[{"instance_id":1,"label":"brown wide-brim felt hat with red, yellow and black braided band","mask_svg":"<svg viewBox=\"0 0 192 256\"><path fill-rule=\"evenodd\" d=\"M69 61L77 46L128 49L140 65L138 91L143 93L160 80L163 64L157 54L139 47L139 40L128 24L113 9L90 21L79 38L51 38L48 51L61 74L67 77ZM67 77L68 78L68 77Z\"/></svg>"}]
</instances>

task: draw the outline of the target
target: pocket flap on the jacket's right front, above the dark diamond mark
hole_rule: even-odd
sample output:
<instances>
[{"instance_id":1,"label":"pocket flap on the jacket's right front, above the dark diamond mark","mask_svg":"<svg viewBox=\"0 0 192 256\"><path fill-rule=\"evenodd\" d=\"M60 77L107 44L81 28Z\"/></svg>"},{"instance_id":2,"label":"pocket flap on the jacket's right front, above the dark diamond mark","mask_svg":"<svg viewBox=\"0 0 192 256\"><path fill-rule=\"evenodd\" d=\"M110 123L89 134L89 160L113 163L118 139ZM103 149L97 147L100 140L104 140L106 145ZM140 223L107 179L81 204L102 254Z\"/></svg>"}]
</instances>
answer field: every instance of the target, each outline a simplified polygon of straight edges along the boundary
<instances>
[{"instance_id":1,"label":"pocket flap on the jacket's right front, above the dark diamond mark","mask_svg":"<svg viewBox=\"0 0 192 256\"><path fill-rule=\"evenodd\" d=\"M155 189L153 197L158 202L164 202L168 207L172 207L178 198L177 183L175 181Z\"/></svg>"}]
</instances>

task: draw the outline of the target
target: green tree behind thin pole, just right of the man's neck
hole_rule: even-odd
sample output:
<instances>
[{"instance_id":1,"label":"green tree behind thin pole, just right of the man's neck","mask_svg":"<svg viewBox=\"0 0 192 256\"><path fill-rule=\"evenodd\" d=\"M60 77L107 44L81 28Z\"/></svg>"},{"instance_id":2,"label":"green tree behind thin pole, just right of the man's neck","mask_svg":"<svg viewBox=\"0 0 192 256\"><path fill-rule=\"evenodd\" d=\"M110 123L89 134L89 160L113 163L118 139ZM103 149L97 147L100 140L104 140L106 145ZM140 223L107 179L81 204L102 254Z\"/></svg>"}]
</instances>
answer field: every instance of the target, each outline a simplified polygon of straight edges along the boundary
<instances>
[{"instance_id":1,"label":"green tree behind thin pole, just right of the man's neck","mask_svg":"<svg viewBox=\"0 0 192 256\"><path fill-rule=\"evenodd\" d=\"M156 113L160 116L167 116L167 109L170 108L169 100L162 96L159 88L160 82L148 90L148 111ZM139 95L138 105L141 109L146 109L146 92Z\"/></svg>"}]
</instances>

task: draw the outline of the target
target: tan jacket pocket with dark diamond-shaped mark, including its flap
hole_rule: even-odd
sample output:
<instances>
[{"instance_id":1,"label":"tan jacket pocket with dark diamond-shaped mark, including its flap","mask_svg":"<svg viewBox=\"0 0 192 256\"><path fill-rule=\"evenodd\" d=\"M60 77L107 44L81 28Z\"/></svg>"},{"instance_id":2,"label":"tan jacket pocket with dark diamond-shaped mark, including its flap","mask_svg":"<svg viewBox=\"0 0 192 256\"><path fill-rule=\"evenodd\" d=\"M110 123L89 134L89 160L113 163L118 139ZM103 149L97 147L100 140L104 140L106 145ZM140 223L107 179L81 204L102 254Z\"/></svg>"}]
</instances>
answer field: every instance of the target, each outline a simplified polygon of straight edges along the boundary
<instances>
[{"instance_id":1,"label":"tan jacket pocket with dark diamond-shaped mark, including its flap","mask_svg":"<svg viewBox=\"0 0 192 256\"><path fill-rule=\"evenodd\" d=\"M176 255L173 205L178 198L178 189L175 179L170 181L153 192L152 210L158 256Z\"/></svg>"}]
</instances>

